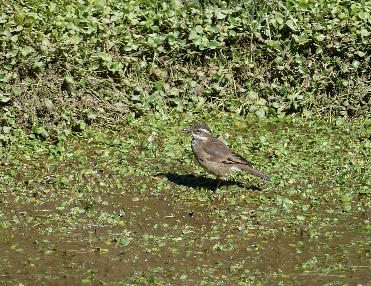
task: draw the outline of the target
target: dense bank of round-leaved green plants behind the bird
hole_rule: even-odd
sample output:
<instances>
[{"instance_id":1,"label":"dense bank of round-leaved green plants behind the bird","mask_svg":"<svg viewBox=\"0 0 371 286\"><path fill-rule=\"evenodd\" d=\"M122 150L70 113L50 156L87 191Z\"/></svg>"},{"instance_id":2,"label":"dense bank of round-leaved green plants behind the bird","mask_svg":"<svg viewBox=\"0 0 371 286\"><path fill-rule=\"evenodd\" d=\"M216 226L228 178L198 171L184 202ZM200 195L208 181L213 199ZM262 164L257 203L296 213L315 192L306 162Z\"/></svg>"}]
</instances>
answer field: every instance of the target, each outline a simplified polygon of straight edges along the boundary
<instances>
[{"instance_id":1,"label":"dense bank of round-leaved green plants behind the bird","mask_svg":"<svg viewBox=\"0 0 371 286\"><path fill-rule=\"evenodd\" d=\"M1 1L2 142L184 114L370 114L371 1Z\"/></svg>"}]
</instances>

